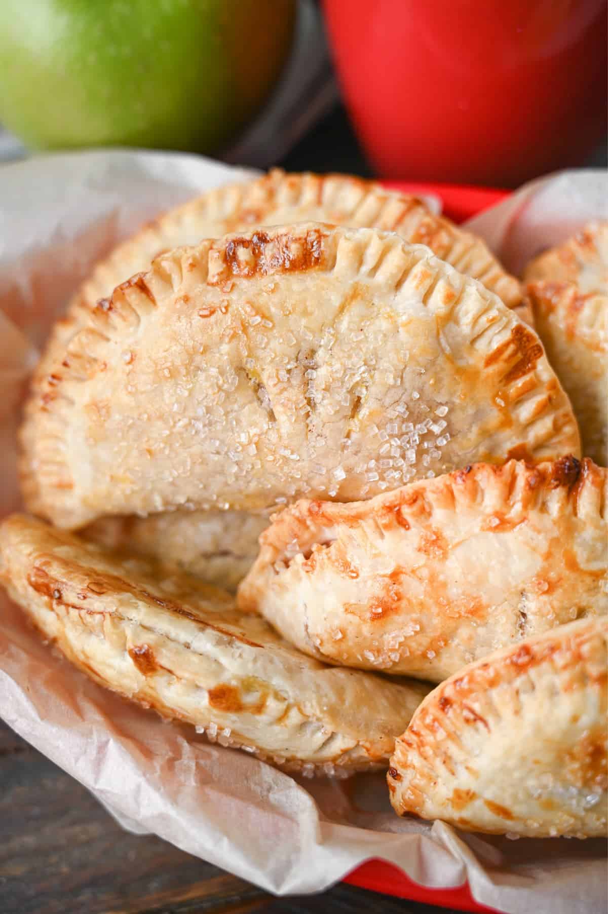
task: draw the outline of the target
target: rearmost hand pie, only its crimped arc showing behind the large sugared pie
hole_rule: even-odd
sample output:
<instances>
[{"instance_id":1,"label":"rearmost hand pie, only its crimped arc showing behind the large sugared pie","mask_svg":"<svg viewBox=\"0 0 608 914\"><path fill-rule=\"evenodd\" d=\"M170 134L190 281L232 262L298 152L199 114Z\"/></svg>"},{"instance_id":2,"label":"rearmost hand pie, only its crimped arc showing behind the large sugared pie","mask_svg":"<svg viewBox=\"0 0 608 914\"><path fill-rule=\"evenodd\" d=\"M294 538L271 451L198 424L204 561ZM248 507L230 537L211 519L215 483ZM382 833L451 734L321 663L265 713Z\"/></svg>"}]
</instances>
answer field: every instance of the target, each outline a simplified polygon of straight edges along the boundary
<instances>
[{"instance_id":1,"label":"rearmost hand pie, only its crimped arc showing behind the large sugared pie","mask_svg":"<svg viewBox=\"0 0 608 914\"><path fill-rule=\"evenodd\" d=\"M435 216L423 200L350 175L286 175L273 169L268 175L216 188L171 209L112 250L83 282L66 317L56 324L36 382L48 374L58 348L62 350L70 336L88 323L95 303L112 295L133 273L148 270L159 252L257 226L310 221L381 228L398 232L406 241L426 244L442 260L496 292L507 307L517 308L519 316L531 319L519 282L508 275L485 242L457 228L450 219Z\"/></svg>"}]
</instances>

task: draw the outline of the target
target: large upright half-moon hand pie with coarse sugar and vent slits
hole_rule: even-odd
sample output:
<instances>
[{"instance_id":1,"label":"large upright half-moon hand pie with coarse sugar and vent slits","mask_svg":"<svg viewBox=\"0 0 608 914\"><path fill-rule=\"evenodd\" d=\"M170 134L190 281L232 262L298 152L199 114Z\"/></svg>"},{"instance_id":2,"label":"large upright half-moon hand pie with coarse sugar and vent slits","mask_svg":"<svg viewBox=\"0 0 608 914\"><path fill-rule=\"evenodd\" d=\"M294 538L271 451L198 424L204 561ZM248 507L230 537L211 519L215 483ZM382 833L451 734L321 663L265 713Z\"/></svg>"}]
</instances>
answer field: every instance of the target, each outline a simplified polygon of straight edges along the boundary
<instances>
[{"instance_id":1,"label":"large upright half-moon hand pie with coarse sugar and vent slits","mask_svg":"<svg viewBox=\"0 0 608 914\"><path fill-rule=\"evenodd\" d=\"M303 224L123 282L30 400L22 444L30 510L77 527L352 501L463 462L576 453L579 436L538 337L496 295L394 233Z\"/></svg>"}]
</instances>

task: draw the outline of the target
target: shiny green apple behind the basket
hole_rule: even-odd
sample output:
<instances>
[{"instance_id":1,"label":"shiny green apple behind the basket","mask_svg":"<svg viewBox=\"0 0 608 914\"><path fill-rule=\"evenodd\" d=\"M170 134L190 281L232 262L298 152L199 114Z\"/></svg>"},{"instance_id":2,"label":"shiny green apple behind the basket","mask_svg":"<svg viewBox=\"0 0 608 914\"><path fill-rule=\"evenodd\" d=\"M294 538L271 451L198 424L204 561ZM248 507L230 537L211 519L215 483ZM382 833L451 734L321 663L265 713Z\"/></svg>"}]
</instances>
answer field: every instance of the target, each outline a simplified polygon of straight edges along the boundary
<instances>
[{"instance_id":1,"label":"shiny green apple behind the basket","mask_svg":"<svg viewBox=\"0 0 608 914\"><path fill-rule=\"evenodd\" d=\"M0 0L0 121L28 146L213 152L266 100L295 0Z\"/></svg>"}]
</instances>

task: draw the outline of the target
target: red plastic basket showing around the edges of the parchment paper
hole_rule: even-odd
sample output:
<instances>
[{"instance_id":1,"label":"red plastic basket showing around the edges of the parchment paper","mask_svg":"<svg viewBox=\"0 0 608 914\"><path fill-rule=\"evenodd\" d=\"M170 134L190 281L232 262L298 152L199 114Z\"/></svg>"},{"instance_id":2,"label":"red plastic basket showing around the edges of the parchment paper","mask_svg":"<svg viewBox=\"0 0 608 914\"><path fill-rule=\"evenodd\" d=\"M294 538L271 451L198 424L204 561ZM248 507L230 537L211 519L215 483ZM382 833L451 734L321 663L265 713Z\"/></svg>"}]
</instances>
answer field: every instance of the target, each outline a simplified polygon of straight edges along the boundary
<instances>
[{"instance_id":1,"label":"red plastic basket showing around the edges of the parchment paper","mask_svg":"<svg viewBox=\"0 0 608 914\"><path fill-rule=\"evenodd\" d=\"M383 184L406 194L432 194L443 203L443 212L454 222L476 216L483 209L493 207L508 196L506 190L491 187L468 187L451 184L411 184L403 181L385 181ZM367 860L344 879L351 886L368 888L384 895L397 898L410 898L411 901L423 901L428 905L440 908L452 908L472 912L492 912L496 909L478 904L468 885L455 888L427 888L413 882L398 866L386 860Z\"/></svg>"}]
</instances>

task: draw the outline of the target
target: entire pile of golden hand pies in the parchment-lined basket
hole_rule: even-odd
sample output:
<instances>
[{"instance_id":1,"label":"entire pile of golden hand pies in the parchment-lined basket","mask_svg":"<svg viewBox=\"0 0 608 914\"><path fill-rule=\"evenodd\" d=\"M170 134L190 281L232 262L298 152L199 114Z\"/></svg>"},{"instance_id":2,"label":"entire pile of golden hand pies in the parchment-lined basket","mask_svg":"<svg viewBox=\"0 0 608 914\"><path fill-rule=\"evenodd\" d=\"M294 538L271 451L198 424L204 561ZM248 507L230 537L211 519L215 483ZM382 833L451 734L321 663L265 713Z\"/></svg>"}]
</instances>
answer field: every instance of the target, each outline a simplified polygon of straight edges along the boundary
<instances>
[{"instance_id":1,"label":"entire pile of golden hand pies in the parchment-lined basket","mask_svg":"<svg viewBox=\"0 0 608 914\"><path fill-rule=\"evenodd\" d=\"M50 336L6 590L209 739L388 768L398 813L603 834L606 230L522 291L421 200L346 176L168 213Z\"/></svg>"}]
</instances>

